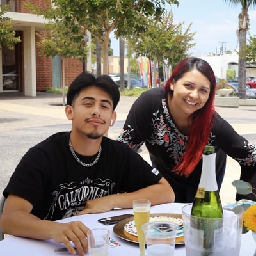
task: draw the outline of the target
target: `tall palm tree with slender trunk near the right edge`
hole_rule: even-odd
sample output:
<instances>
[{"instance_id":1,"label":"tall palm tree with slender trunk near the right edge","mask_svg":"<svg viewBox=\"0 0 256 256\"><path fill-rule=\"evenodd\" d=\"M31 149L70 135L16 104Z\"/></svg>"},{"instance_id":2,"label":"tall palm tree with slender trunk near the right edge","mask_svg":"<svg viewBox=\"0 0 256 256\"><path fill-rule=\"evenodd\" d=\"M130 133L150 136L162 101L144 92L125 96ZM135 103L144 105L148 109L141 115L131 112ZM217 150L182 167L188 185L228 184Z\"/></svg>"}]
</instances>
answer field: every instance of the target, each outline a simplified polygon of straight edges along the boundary
<instances>
[{"instance_id":1,"label":"tall palm tree with slender trunk near the right edge","mask_svg":"<svg viewBox=\"0 0 256 256\"><path fill-rule=\"evenodd\" d=\"M224 0L225 3L228 0ZM246 99L246 34L250 28L250 19L248 9L256 5L256 0L229 0L230 5L237 6L241 4L242 12L238 15L237 36L239 40L239 60L238 60L238 83L239 83L239 98Z\"/></svg>"}]
</instances>

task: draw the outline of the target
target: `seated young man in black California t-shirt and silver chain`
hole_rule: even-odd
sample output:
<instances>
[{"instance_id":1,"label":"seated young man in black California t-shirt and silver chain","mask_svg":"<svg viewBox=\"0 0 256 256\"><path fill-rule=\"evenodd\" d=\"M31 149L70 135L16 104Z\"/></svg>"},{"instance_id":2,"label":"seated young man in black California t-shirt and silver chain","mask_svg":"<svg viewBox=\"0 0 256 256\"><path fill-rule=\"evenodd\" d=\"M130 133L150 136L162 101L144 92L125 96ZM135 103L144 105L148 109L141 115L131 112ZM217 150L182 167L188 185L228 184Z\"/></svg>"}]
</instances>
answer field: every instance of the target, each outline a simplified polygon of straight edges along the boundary
<instances>
[{"instance_id":1,"label":"seated young man in black California t-shirt and silver chain","mask_svg":"<svg viewBox=\"0 0 256 256\"><path fill-rule=\"evenodd\" d=\"M127 145L104 137L115 123L119 99L109 76L77 76L65 107L72 130L29 149L4 189L0 225L5 234L54 239L70 253L84 255L88 227L54 220L131 208L136 198L152 205L174 201L172 188L155 168Z\"/></svg>"}]
</instances>

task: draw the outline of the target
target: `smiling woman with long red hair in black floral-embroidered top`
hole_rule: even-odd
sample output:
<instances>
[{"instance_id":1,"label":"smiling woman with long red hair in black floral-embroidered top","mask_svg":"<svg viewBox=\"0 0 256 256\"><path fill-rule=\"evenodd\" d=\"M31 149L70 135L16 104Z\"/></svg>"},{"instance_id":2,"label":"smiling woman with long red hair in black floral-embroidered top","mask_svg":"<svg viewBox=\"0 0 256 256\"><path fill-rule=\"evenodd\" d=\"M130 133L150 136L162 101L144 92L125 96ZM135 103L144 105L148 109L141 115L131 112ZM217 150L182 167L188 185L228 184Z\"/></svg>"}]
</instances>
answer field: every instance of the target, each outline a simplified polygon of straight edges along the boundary
<instances>
[{"instance_id":1,"label":"smiling woman with long red hair in black floral-embroidered top","mask_svg":"<svg viewBox=\"0 0 256 256\"><path fill-rule=\"evenodd\" d=\"M215 89L216 79L209 63L186 58L173 69L163 88L148 90L138 97L118 136L118 141L136 151L145 143L152 165L172 186L175 202L193 202L207 144L216 150L219 189L226 154L239 162L241 179L256 185L256 147L216 113Z\"/></svg>"}]
</instances>

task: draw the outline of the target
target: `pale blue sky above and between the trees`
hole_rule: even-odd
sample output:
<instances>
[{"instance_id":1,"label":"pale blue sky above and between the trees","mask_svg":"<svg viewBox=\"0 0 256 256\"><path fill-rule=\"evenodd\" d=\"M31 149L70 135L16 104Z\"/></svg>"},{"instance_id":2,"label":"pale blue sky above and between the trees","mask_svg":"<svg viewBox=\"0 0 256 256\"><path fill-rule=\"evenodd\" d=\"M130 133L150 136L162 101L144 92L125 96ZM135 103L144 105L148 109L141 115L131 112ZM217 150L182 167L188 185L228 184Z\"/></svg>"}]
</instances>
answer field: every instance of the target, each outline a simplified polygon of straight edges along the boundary
<instances>
[{"instance_id":1,"label":"pale blue sky above and between the trees","mask_svg":"<svg viewBox=\"0 0 256 256\"><path fill-rule=\"evenodd\" d=\"M224 3L224 0L179 0L179 6L168 6L173 12L173 23L184 22L182 28L188 28L192 23L190 32L194 36L195 47L189 52L193 56L216 54L220 47L226 51L234 51L238 47L236 30L238 28L238 15L241 13L241 4L234 6ZM256 35L256 8L250 8L250 35ZM119 56L119 42L111 33L111 48L114 56Z\"/></svg>"}]
</instances>

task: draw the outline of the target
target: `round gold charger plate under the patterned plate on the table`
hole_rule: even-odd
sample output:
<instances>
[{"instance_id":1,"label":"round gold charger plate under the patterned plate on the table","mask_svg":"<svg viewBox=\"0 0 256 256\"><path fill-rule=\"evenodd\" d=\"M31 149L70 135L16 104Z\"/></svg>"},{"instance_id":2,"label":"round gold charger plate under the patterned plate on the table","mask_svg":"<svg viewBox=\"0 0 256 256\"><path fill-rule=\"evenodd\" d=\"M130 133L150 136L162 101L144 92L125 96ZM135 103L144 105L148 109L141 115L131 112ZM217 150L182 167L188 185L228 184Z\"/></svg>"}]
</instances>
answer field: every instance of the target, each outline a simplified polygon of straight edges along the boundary
<instances>
[{"instance_id":1,"label":"round gold charger plate under the patterned plate on the table","mask_svg":"<svg viewBox=\"0 0 256 256\"><path fill-rule=\"evenodd\" d=\"M167 216L167 217L173 217L173 218L180 218L182 219L182 214L175 214L175 213L154 213L150 214L151 217L157 217L157 216ZM116 236L133 243L138 243L138 236L134 236L132 234L129 234L125 231L124 226L129 221L133 221L134 218L127 218L125 220L121 220L113 227L113 232L116 234ZM184 244L184 236L176 237L175 244Z\"/></svg>"}]
</instances>

